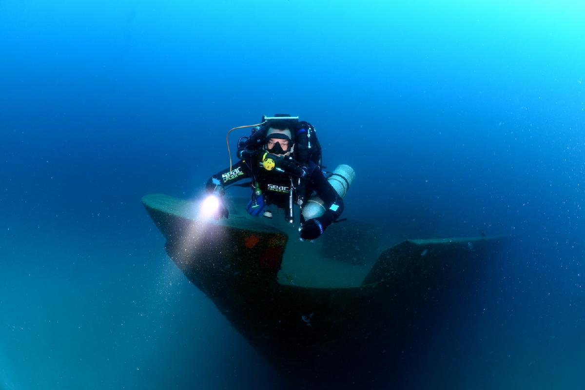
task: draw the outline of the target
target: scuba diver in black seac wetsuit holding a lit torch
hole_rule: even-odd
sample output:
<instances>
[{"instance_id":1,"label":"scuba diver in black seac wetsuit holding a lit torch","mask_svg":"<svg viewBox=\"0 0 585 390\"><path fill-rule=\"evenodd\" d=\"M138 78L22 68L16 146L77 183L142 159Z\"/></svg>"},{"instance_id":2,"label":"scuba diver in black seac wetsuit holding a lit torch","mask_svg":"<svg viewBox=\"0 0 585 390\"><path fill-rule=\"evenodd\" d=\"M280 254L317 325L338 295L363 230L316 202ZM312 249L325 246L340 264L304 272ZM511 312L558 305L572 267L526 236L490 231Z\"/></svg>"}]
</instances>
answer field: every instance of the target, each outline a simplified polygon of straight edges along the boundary
<instances>
[{"instance_id":1,"label":"scuba diver in black seac wetsuit holding a lit torch","mask_svg":"<svg viewBox=\"0 0 585 390\"><path fill-rule=\"evenodd\" d=\"M285 210L287 221L294 223L293 205L297 204L301 207L301 225L298 229L301 240L314 240L321 236L343 212L343 200L321 170L321 147L315 128L287 114L270 118L263 116L259 125L241 127L253 129L249 137L240 137L238 141L240 161L232 166L230 156L230 167L212 175L205 191L223 195L226 187L243 178L250 178L252 181L249 183L235 184L252 187L252 198L246 206L250 215L271 218L272 214L266 206L276 205L278 209ZM347 182L342 175L338 176ZM339 178L338 181L341 182ZM310 209L304 208L307 199L314 203L312 206L318 205L318 212L305 211ZM215 216L227 218L225 206L220 206Z\"/></svg>"}]
</instances>

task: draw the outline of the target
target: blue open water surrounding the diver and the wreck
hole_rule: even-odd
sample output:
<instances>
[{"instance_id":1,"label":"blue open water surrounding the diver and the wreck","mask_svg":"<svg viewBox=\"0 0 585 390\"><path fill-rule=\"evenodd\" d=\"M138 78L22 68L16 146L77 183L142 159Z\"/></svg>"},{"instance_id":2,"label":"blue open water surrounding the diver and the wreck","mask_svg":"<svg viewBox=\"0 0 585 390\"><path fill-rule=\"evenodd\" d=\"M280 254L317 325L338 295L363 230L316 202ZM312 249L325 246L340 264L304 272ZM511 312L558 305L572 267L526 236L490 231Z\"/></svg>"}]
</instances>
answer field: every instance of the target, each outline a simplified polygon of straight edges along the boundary
<instances>
[{"instance_id":1,"label":"blue open water surrounding the diver and the wreck","mask_svg":"<svg viewBox=\"0 0 585 390\"><path fill-rule=\"evenodd\" d=\"M0 389L284 385L140 205L276 112L355 168L348 218L513 237L389 386L581 388L585 7L402 3L0 2Z\"/></svg>"}]
</instances>

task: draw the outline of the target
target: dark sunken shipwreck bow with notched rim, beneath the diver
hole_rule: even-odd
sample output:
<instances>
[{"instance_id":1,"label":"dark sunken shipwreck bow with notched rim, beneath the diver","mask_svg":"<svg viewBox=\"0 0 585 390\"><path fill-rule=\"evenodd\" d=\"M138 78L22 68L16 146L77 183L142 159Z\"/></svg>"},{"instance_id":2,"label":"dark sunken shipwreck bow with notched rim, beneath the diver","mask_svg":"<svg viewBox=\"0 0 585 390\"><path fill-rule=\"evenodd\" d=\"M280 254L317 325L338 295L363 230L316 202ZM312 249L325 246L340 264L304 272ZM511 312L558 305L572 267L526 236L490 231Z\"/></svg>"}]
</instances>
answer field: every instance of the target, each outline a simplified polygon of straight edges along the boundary
<instances>
[{"instance_id":1,"label":"dark sunken shipwreck bow with notched rim, beneath the diver","mask_svg":"<svg viewBox=\"0 0 585 390\"><path fill-rule=\"evenodd\" d=\"M177 267L298 388L378 388L419 337L421 318L455 300L505 239L404 240L352 263L347 247L301 243L284 220L264 223L243 207L204 220L196 202L142 202ZM352 244L354 254L374 256L380 233L359 234L367 242Z\"/></svg>"}]
</instances>

